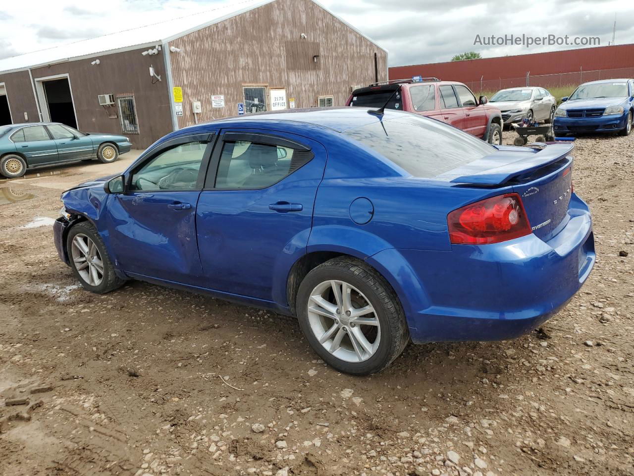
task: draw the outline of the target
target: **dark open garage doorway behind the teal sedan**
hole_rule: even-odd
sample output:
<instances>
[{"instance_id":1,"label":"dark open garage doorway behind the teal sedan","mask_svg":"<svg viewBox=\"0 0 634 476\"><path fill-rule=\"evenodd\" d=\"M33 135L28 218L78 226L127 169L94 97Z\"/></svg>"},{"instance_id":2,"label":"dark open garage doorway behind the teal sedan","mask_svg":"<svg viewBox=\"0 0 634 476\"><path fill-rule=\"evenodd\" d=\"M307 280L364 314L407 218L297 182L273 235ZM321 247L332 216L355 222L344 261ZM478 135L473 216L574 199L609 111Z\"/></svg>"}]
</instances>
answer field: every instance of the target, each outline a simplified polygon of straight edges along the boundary
<instances>
[{"instance_id":1,"label":"dark open garage doorway behind the teal sedan","mask_svg":"<svg viewBox=\"0 0 634 476\"><path fill-rule=\"evenodd\" d=\"M77 128L77 117L68 75L36 79L37 96L42 109L42 120L61 122Z\"/></svg>"}]
</instances>

